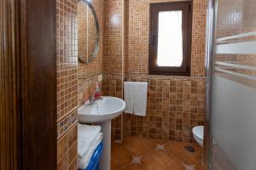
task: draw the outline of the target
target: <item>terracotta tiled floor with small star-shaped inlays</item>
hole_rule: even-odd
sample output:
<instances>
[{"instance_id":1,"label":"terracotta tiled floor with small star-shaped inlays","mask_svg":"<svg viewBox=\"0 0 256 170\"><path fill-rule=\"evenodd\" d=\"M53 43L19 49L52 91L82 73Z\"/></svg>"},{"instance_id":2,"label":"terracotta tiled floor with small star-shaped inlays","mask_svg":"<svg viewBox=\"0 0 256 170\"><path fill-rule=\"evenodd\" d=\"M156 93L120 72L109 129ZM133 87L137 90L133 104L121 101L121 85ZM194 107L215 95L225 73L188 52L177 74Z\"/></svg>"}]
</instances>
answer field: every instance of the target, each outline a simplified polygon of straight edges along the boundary
<instances>
[{"instance_id":1,"label":"terracotta tiled floor with small star-shaped inlays","mask_svg":"<svg viewBox=\"0 0 256 170\"><path fill-rule=\"evenodd\" d=\"M192 146L194 153L184 150ZM125 137L112 144L112 170L201 170L202 150L197 144Z\"/></svg>"}]
</instances>

